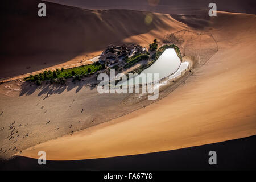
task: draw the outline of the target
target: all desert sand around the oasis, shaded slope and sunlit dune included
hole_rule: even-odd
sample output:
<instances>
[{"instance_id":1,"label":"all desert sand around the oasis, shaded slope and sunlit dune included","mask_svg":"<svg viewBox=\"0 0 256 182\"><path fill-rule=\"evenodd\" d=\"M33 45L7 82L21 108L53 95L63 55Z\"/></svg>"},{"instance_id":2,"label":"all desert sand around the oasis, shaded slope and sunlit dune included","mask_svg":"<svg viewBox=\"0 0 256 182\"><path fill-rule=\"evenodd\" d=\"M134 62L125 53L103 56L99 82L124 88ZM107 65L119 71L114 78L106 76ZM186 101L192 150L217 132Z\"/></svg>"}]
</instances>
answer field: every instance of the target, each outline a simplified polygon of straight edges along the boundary
<instances>
[{"instance_id":1,"label":"all desert sand around the oasis, shaded slope and sunlit dune included","mask_svg":"<svg viewBox=\"0 0 256 182\"><path fill-rule=\"evenodd\" d=\"M37 3L30 2L24 9ZM16 11L20 6L8 7ZM46 151L48 160L105 158L256 134L255 15L218 11L217 17L209 18L207 11L195 15L186 6L179 10L187 15L181 14L184 11L174 15L84 10L52 3L47 7L49 13L43 20L34 16L36 10L24 15L19 9L23 26L14 23L12 31L4 32L1 78L78 63L96 56L110 43L148 46L154 38L159 44L166 43L166 36L172 33L178 39L170 41L195 61L193 74L163 91L153 104L146 100L129 105L124 101L130 96L122 94L99 96L95 88L86 86L94 77L76 84L69 81L67 86L1 84L2 158L14 154L38 158L40 150ZM15 21L6 17L6 22ZM152 21L145 22L146 17ZM17 30L24 36L13 38ZM109 121L111 118L116 119ZM51 122L46 124L47 120ZM18 133L14 139L6 139L14 121Z\"/></svg>"}]
</instances>

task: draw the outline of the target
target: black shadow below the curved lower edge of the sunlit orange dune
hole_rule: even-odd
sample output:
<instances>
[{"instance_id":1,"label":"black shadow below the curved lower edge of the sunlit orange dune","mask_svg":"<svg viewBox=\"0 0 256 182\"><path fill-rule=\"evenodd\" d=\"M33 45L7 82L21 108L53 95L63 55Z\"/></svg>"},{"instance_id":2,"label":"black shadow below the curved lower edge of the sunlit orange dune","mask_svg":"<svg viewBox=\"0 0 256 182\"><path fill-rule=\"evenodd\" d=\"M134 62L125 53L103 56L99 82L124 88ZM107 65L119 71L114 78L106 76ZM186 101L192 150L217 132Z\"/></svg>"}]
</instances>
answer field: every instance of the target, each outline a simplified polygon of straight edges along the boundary
<instances>
[{"instance_id":1,"label":"black shadow below the curved lower edge of the sunlit orange dune","mask_svg":"<svg viewBox=\"0 0 256 182\"><path fill-rule=\"evenodd\" d=\"M15 157L0 162L1 170L255 170L256 135L151 154L114 158L51 161ZM209 165L209 151L216 151L217 165Z\"/></svg>"}]
</instances>

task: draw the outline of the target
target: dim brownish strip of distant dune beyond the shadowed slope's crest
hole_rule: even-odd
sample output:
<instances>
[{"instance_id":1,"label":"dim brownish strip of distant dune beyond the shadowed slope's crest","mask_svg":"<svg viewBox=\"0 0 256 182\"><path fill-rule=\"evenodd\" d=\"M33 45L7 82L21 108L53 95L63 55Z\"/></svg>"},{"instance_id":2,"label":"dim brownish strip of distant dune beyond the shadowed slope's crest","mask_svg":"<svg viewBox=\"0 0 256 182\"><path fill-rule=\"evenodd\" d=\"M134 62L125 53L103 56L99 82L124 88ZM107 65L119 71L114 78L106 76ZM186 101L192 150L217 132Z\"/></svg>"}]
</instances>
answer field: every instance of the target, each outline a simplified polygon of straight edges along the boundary
<instances>
[{"instance_id":1,"label":"dim brownish strip of distant dune beyond the shadowed slope's crest","mask_svg":"<svg viewBox=\"0 0 256 182\"><path fill-rule=\"evenodd\" d=\"M256 14L254 0L46 0L63 5L75 6L84 9L130 9L142 11L154 11L167 14L196 14L197 11L208 9L209 3L216 3L218 11L230 11L236 13ZM208 9L209 10L209 9Z\"/></svg>"}]
</instances>

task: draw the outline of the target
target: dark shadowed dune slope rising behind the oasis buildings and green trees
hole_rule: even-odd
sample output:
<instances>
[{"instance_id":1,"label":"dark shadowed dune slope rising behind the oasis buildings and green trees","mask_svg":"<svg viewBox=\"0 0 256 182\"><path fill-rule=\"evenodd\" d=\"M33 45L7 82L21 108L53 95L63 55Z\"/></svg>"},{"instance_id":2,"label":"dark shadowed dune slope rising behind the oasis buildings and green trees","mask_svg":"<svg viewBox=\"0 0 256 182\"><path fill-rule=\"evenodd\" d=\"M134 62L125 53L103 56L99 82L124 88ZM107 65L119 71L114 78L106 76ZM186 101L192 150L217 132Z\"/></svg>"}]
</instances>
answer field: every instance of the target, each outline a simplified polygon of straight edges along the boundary
<instances>
[{"instance_id":1,"label":"dark shadowed dune slope rising behind the oasis buildings and green trees","mask_svg":"<svg viewBox=\"0 0 256 182\"><path fill-rule=\"evenodd\" d=\"M5 26L1 30L0 78L64 63L133 35L172 30L170 23L175 22L170 15L151 14L152 22L147 24L148 13L141 11L83 10L50 2L45 2L47 16L39 18L39 2L1 2Z\"/></svg>"}]
</instances>

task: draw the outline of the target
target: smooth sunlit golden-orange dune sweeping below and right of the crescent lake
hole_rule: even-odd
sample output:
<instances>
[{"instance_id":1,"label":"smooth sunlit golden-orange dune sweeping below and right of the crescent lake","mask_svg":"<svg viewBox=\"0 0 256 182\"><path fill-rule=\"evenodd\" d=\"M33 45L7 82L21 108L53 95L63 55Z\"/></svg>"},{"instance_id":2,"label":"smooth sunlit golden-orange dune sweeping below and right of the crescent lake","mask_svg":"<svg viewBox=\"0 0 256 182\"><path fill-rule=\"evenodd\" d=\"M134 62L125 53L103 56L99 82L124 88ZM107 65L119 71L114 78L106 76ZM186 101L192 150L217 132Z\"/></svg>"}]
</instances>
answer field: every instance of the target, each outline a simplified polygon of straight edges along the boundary
<instances>
[{"instance_id":1,"label":"smooth sunlit golden-orange dune sweeping below and right of the crescent lake","mask_svg":"<svg viewBox=\"0 0 256 182\"><path fill-rule=\"evenodd\" d=\"M193 30L189 24L195 19L190 18L184 16L187 23L183 25ZM218 52L205 65L193 69L185 84L145 109L49 140L22 155L38 158L38 151L43 150L48 160L105 158L255 135L255 20L255 15L218 11L217 18L207 20L208 26L196 30L213 35ZM180 26L180 22L169 26ZM208 44L199 43L199 47Z\"/></svg>"}]
</instances>

